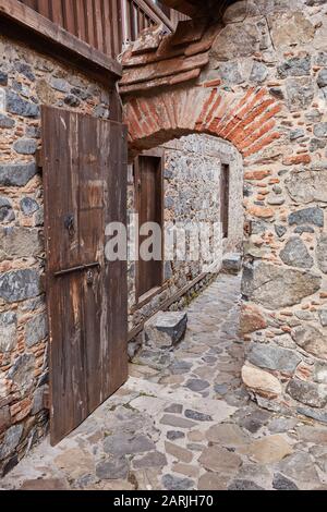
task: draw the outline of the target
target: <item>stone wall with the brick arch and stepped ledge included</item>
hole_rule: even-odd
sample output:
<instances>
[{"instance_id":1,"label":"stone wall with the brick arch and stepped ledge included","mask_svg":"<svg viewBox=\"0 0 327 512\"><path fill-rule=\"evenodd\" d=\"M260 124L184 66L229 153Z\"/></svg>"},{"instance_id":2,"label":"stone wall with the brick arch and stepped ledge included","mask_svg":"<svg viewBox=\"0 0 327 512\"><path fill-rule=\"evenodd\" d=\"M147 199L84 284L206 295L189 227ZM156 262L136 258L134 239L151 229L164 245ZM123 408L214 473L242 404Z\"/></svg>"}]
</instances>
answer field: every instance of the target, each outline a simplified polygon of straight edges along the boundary
<instances>
[{"instance_id":1,"label":"stone wall with the brick arch and stepped ledge included","mask_svg":"<svg viewBox=\"0 0 327 512\"><path fill-rule=\"evenodd\" d=\"M327 2L239 1L141 42L123 57L131 149L192 132L243 156L243 380L326 423Z\"/></svg>"}]
</instances>

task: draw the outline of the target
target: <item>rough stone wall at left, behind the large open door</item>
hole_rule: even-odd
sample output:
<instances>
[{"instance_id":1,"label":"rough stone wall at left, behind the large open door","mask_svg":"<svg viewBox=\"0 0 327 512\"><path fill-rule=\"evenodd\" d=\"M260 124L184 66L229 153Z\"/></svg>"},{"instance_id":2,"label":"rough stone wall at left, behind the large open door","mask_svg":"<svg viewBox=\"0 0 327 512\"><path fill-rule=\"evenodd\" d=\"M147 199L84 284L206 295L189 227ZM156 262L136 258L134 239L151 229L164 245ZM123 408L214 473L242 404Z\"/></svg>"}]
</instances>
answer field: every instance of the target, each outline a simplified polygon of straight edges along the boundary
<instances>
[{"instance_id":1,"label":"rough stone wall at left, behind the large open door","mask_svg":"<svg viewBox=\"0 0 327 512\"><path fill-rule=\"evenodd\" d=\"M108 93L0 37L0 474L44 435L48 418L40 105L107 118Z\"/></svg>"}]
</instances>

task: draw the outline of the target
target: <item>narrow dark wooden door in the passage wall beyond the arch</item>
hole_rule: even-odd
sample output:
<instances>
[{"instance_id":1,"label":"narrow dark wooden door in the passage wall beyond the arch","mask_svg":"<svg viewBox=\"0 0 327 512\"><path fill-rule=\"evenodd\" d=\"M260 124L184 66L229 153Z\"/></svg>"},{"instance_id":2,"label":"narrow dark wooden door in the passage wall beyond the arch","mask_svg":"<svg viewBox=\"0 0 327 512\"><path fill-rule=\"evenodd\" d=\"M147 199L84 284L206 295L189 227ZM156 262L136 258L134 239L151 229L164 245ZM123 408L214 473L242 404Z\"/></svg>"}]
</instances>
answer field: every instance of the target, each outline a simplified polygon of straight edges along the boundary
<instances>
[{"instance_id":1,"label":"narrow dark wooden door in the passage wall beyond the arch","mask_svg":"<svg viewBox=\"0 0 327 512\"><path fill-rule=\"evenodd\" d=\"M162 158L142 155L137 159L137 211L140 228L146 222L156 222L162 230ZM140 235L138 247L146 235ZM162 284L162 234L160 259L144 260L138 255L137 298Z\"/></svg>"}]
</instances>

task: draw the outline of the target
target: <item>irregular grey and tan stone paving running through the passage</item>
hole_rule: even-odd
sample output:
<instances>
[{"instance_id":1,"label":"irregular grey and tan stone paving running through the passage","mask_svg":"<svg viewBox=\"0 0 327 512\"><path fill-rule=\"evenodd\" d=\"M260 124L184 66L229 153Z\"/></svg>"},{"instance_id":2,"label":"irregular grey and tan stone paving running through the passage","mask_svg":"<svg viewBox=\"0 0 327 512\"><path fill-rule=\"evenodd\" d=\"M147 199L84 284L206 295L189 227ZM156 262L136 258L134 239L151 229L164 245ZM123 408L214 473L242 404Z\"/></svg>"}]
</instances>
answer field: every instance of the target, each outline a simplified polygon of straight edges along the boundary
<instances>
[{"instance_id":1,"label":"irregular grey and tan stone paving running through the passage","mask_svg":"<svg viewBox=\"0 0 327 512\"><path fill-rule=\"evenodd\" d=\"M259 409L242 387L240 278L187 308L168 368L130 379L56 448L45 439L2 489L327 489L327 428Z\"/></svg>"}]
</instances>

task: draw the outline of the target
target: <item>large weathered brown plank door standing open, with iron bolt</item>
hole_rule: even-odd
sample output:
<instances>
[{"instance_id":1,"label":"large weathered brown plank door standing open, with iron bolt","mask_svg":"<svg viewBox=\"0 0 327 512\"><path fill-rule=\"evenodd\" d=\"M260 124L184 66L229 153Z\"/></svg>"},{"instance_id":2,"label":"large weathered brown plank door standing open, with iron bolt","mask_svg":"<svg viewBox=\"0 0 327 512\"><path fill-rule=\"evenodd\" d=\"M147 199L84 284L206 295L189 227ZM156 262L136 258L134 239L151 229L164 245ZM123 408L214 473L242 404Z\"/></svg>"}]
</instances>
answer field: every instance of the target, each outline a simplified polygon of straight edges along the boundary
<instances>
[{"instance_id":1,"label":"large weathered brown plank door standing open, with iron bolt","mask_svg":"<svg viewBox=\"0 0 327 512\"><path fill-rule=\"evenodd\" d=\"M128 377L126 263L106 261L105 229L126 223L126 132L43 108L50 430L55 444Z\"/></svg>"}]
</instances>

